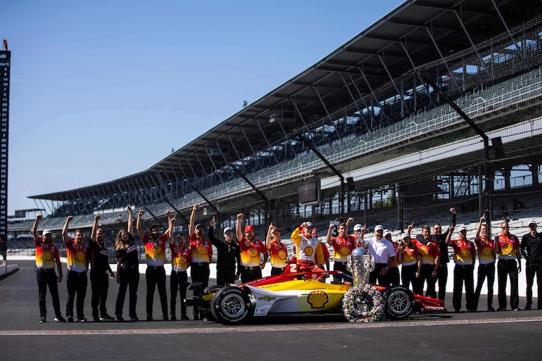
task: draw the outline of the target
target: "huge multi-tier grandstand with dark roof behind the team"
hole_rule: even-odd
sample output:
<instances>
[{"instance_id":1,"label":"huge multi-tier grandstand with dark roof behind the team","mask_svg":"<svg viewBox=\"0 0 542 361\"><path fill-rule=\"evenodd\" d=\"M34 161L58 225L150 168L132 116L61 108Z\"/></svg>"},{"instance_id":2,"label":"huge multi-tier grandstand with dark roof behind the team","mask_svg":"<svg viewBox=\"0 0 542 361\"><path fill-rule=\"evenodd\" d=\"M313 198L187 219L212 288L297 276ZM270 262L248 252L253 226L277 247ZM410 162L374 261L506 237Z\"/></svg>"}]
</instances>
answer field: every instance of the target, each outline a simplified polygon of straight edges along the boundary
<instances>
[{"instance_id":1,"label":"huge multi-tier grandstand with dark roof behind the team","mask_svg":"<svg viewBox=\"0 0 542 361\"><path fill-rule=\"evenodd\" d=\"M201 202L201 222L244 213L260 238L269 222L323 231L343 213L397 235L445 224L451 206L468 236L481 213L522 234L542 221L541 156L542 2L412 0L147 170L30 198L56 232L101 213L113 236L129 203L147 223L165 210L186 223ZM8 224L11 239L30 239L32 222Z\"/></svg>"}]
</instances>

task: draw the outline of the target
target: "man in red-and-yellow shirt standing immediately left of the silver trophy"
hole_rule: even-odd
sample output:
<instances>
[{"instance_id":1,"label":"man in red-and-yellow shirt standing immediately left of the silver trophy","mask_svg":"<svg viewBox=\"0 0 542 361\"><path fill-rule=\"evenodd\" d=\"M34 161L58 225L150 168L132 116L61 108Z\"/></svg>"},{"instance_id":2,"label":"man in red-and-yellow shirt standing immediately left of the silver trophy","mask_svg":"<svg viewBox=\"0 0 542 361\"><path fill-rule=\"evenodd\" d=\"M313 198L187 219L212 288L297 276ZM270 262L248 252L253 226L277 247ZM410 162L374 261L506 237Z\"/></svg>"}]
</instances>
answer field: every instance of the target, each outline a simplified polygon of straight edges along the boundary
<instances>
[{"instance_id":1,"label":"man in red-and-yellow shirt standing immediately left of the silver trophy","mask_svg":"<svg viewBox=\"0 0 542 361\"><path fill-rule=\"evenodd\" d=\"M338 235L332 237L332 231L335 227L337 228ZM333 270L341 271L344 274L348 274L348 276L352 276L352 272L348 271L346 268L346 263L348 262L348 256L352 253L353 249L358 246L358 239L355 236L348 234L346 232L346 227L346 224L342 222L336 226L335 224L329 224L326 242L329 246L333 247ZM361 228L361 224L356 224L354 226L354 232L356 229ZM342 278L339 274L333 275L333 283L342 283Z\"/></svg>"}]
</instances>

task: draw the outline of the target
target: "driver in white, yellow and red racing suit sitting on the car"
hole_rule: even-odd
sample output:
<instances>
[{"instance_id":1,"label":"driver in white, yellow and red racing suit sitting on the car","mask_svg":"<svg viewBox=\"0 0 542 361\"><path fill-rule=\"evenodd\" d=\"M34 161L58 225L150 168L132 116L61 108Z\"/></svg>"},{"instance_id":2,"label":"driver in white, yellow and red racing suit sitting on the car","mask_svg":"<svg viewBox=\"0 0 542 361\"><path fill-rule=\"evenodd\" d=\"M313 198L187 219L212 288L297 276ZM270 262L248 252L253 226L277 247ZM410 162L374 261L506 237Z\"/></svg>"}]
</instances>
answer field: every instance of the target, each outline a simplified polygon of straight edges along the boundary
<instances>
[{"instance_id":1,"label":"driver in white, yellow and red racing suit sitting on the car","mask_svg":"<svg viewBox=\"0 0 542 361\"><path fill-rule=\"evenodd\" d=\"M317 264L316 260L323 260L322 243L313 237L314 226L311 222L303 222L291 233L291 240L296 245L296 258L298 272L310 272Z\"/></svg>"}]
</instances>

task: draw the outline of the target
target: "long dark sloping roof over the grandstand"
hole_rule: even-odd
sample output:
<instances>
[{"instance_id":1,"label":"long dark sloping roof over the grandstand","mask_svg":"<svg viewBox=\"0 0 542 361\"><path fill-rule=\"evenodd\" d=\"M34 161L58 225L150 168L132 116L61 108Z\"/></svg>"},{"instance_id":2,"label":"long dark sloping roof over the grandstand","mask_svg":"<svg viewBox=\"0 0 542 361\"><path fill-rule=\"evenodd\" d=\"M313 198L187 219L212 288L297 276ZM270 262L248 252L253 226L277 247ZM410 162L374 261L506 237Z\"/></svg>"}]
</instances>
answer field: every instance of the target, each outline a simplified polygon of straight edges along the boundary
<instances>
[{"instance_id":1,"label":"long dark sloping roof over the grandstand","mask_svg":"<svg viewBox=\"0 0 542 361\"><path fill-rule=\"evenodd\" d=\"M163 175L170 180L179 175L202 177L235 164L285 137L320 127L346 106L418 65L470 48L541 12L539 0L494 3L496 7L491 0L405 1L307 70L149 169L30 198L70 201L80 194L121 190L132 182L167 182Z\"/></svg>"}]
</instances>

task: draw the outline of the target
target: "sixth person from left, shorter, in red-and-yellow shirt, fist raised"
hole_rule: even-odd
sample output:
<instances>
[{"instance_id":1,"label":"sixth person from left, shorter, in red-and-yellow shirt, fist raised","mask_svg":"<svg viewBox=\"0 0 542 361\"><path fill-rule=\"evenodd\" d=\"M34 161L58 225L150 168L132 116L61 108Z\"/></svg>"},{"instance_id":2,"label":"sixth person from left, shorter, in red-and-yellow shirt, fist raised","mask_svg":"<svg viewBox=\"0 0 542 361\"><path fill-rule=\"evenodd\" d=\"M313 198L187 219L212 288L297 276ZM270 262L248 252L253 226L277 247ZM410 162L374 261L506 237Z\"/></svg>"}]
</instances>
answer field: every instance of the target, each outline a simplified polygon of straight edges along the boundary
<instances>
[{"instance_id":1,"label":"sixth person from left, shorter, in red-and-yellow shirt, fist raised","mask_svg":"<svg viewBox=\"0 0 542 361\"><path fill-rule=\"evenodd\" d=\"M175 217L171 219L171 227L175 223ZM177 304L177 293L181 296L181 321L189 320L187 316L187 286L188 274L187 269L192 262L192 251L187 247L187 236L177 234L173 238L173 232L170 237L171 251L171 276L170 276L170 311L172 321L177 319L175 308Z\"/></svg>"}]
</instances>

